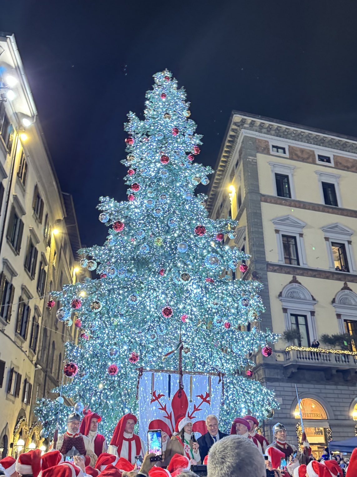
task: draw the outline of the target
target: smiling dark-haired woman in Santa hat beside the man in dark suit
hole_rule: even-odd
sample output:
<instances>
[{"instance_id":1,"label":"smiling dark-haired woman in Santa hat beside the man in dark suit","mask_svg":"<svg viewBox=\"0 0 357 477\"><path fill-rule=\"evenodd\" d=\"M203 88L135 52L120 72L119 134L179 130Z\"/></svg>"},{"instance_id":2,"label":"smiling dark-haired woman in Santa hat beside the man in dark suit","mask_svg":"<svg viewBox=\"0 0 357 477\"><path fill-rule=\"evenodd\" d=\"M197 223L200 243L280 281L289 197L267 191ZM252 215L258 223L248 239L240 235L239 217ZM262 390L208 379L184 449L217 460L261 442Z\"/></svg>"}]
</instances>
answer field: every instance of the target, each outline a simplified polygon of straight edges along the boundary
<instances>
[{"instance_id":1,"label":"smiling dark-haired woman in Santa hat beside the man in dark suit","mask_svg":"<svg viewBox=\"0 0 357 477\"><path fill-rule=\"evenodd\" d=\"M198 448L199 444L192 434L192 420L187 416L179 417L175 425L174 435L166 444L163 467L169 464L175 454L187 456L193 465L200 464L201 456Z\"/></svg>"}]
</instances>

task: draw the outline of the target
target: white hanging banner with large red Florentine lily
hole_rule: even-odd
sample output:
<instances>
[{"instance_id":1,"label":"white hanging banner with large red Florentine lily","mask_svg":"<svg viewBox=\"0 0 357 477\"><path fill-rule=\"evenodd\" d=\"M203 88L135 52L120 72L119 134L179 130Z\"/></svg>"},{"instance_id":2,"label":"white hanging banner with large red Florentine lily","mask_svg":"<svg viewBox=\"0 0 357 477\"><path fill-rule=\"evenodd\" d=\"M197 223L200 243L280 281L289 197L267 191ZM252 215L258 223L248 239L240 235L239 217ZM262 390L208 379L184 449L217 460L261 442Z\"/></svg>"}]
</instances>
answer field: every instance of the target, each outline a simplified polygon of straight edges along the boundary
<instances>
[{"instance_id":1,"label":"white hanging banner with large red Florentine lily","mask_svg":"<svg viewBox=\"0 0 357 477\"><path fill-rule=\"evenodd\" d=\"M216 375L184 374L179 392L179 375L144 371L139 383L139 436L147 441L148 429L161 429L169 436L181 416L192 419L196 438L207 432L208 414L219 418L222 383Z\"/></svg>"}]
</instances>

